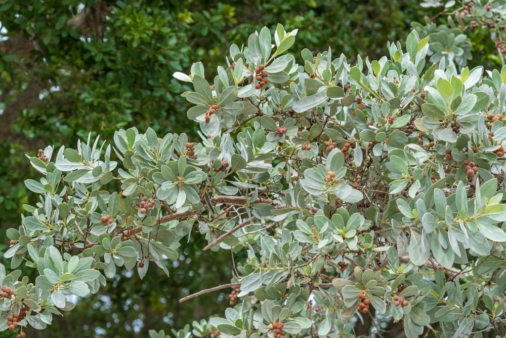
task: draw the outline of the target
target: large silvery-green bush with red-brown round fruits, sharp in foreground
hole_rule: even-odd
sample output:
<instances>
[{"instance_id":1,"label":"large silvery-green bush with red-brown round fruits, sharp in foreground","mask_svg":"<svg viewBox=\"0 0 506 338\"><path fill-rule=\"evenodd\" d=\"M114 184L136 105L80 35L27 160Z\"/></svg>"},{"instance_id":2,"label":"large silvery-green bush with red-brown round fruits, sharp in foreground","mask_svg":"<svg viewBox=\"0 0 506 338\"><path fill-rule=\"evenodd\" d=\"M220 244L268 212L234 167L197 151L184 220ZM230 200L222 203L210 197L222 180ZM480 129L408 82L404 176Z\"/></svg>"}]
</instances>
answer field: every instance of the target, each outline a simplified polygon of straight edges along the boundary
<instances>
[{"instance_id":1,"label":"large silvery-green bush with red-brown round fruits, sharp in foreground","mask_svg":"<svg viewBox=\"0 0 506 338\"><path fill-rule=\"evenodd\" d=\"M296 33L251 34L214 79L198 62L174 74L200 143L130 128L30 158L40 200L5 257L38 277L0 266L1 330L43 329L117 267L166 271L205 236L247 260L182 301L233 287L238 302L177 336L503 334L506 67L426 64L416 31L379 60L298 64Z\"/></svg>"}]
</instances>

